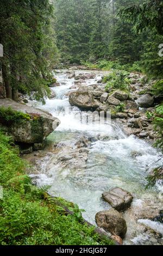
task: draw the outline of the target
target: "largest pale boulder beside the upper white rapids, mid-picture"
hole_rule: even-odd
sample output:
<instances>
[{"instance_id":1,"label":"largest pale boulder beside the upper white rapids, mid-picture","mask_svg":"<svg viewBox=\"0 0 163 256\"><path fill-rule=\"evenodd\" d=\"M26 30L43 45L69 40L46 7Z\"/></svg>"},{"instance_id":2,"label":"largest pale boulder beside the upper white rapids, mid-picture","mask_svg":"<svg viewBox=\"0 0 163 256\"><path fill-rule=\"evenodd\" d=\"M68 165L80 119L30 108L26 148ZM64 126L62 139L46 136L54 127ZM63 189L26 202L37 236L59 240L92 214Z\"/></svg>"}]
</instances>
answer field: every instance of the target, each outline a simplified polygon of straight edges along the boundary
<instances>
[{"instance_id":1,"label":"largest pale boulder beside the upper white rapids, mid-picture","mask_svg":"<svg viewBox=\"0 0 163 256\"><path fill-rule=\"evenodd\" d=\"M77 106L82 110L95 110L100 106L100 102L95 100L92 92L71 92L69 95L71 106Z\"/></svg>"}]
</instances>

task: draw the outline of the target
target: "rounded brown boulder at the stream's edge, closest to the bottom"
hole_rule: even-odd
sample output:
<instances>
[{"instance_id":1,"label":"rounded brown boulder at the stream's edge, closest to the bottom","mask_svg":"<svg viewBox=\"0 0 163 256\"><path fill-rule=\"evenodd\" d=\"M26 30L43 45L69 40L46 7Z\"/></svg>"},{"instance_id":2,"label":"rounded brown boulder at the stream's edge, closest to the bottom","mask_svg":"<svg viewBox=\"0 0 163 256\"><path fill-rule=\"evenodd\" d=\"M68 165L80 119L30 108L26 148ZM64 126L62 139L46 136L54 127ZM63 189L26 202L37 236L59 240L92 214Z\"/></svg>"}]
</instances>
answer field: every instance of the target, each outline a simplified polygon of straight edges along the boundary
<instances>
[{"instance_id":1,"label":"rounded brown boulder at the stream's edge, closest to the bottom","mask_svg":"<svg viewBox=\"0 0 163 256\"><path fill-rule=\"evenodd\" d=\"M126 235L126 221L122 214L115 209L99 211L95 218L98 227L109 231L112 235L118 235L122 238Z\"/></svg>"}]
</instances>

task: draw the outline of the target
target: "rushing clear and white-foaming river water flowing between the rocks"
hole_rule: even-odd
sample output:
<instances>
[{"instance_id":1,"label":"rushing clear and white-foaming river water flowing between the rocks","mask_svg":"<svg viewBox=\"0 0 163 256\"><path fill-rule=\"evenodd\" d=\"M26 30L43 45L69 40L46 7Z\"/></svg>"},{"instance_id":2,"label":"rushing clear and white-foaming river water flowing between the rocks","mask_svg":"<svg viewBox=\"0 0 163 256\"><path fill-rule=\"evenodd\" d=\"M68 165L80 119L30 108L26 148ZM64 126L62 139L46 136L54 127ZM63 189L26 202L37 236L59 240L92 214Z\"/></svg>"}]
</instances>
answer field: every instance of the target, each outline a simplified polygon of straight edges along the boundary
<instances>
[{"instance_id":1,"label":"rushing clear and white-foaming river water flowing between the rocks","mask_svg":"<svg viewBox=\"0 0 163 256\"><path fill-rule=\"evenodd\" d=\"M95 73L76 71L76 74L81 72ZM97 83L102 75L97 71L96 78L86 80L85 84L89 86ZM121 187L134 195L131 209L124 213L128 226L124 243L161 244L160 238L153 237L147 232L150 221L146 220L146 214L143 221L138 221L139 217L135 217L135 212L139 216L139 211L145 212L149 207L155 210L163 203L163 187L159 182L153 188L145 189L148 174L146 168L160 158L160 152L133 135L127 137L121 127L113 121L110 123L110 120L106 120L99 124L95 120L92 124L85 118L85 113L81 121L81 111L77 107L70 107L66 96L74 84L74 78L68 78L70 74L66 71L56 76L61 86L52 88L56 94L55 99L47 99L44 106L40 102L30 102L38 108L47 110L61 121L59 127L47 138L48 144L65 143L73 148L74 142L81 136L91 138L91 143L85 168L61 167L58 164L51 164L51 159L48 159L43 162L37 175L37 185L49 184L51 194L77 203L80 209L85 209L83 217L93 224L98 211L110 208L109 204L101 199L102 192L115 186ZM162 230L163 234L162 224L151 222L152 229L158 231L159 225L159 230Z\"/></svg>"}]
</instances>

